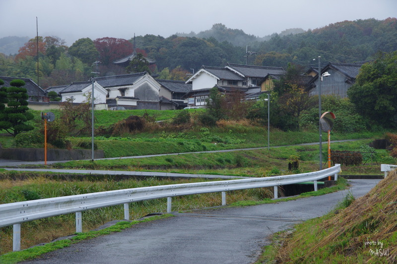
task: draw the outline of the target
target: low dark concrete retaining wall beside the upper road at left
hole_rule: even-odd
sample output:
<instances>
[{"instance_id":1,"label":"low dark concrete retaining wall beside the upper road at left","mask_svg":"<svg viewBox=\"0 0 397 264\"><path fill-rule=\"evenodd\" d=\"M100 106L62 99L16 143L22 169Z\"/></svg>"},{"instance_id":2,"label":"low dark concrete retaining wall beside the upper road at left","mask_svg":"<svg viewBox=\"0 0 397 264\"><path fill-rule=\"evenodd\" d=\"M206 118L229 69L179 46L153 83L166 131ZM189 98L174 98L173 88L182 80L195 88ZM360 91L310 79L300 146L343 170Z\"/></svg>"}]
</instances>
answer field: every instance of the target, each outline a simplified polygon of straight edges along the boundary
<instances>
[{"instance_id":1,"label":"low dark concrete retaining wall beside the upper road at left","mask_svg":"<svg viewBox=\"0 0 397 264\"><path fill-rule=\"evenodd\" d=\"M94 158L104 157L103 150L94 151ZM0 149L0 158L23 161L44 161L44 149ZM47 149L47 161L91 158L91 150Z\"/></svg>"}]
</instances>

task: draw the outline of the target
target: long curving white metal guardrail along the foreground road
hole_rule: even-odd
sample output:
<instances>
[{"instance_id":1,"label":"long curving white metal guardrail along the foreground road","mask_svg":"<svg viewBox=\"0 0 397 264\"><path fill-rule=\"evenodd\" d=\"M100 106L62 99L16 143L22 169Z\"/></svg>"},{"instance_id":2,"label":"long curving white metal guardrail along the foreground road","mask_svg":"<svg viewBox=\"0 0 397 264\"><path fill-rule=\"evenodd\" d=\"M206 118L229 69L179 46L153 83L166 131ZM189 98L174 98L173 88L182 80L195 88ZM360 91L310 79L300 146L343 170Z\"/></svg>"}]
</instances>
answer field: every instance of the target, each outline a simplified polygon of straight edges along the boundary
<instances>
[{"instance_id":1,"label":"long curving white metal guardrail along the foreground road","mask_svg":"<svg viewBox=\"0 0 397 264\"><path fill-rule=\"evenodd\" d=\"M82 211L123 204L124 219L129 220L129 203L137 201L167 198L167 212L171 212L174 196L221 192L222 205L226 205L227 191L263 187L274 187L276 199L277 187L280 185L314 181L314 190L317 191L317 180L331 175L337 180L338 172L340 172L340 164L335 164L321 171L293 175L140 187L3 204L0 205L0 227L13 225L13 251L19 251L22 222L74 212L76 232L82 232Z\"/></svg>"}]
</instances>

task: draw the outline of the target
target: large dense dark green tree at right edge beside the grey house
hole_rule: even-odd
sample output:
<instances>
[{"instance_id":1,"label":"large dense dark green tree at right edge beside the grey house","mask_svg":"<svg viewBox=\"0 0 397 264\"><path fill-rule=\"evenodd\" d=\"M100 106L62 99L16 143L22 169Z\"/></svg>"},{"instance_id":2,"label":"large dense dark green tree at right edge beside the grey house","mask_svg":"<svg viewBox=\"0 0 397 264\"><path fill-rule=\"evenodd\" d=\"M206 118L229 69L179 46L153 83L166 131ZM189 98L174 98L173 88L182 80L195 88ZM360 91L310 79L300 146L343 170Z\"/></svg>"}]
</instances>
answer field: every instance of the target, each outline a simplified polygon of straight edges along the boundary
<instances>
[{"instance_id":1,"label":"large dense dark green tree at right edge beside the grey house","mask_svg":"<svg viewBox=\"0 0 397 264\"><path fill-rule=\"evenodd\" d=\"M364 117L384 127L397 127L397 52L378 53L361 67L356 83L347 90Z\"/></svg>"}]
</instances>

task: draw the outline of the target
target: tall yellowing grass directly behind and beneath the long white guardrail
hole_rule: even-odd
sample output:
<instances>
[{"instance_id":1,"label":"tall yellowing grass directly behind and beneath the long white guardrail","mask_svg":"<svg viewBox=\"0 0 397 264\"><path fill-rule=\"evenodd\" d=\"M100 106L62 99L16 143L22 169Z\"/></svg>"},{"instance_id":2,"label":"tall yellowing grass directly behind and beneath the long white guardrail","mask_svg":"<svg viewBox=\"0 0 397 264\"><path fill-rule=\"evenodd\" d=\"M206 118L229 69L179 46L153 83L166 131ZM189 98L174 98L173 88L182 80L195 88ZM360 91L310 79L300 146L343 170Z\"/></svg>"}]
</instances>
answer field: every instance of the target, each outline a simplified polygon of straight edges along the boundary
<instances>
[{"instance_id":1,"label":"tall yellowing grass directly behind and beneath the long white guardrail","mask_svg":"<svg viewBox=\"0 0 397 264\"><path fill-rule=\"evenodd\" d=\"M0 203L13 203L27 201L30 199L43 199L67 195L76 195L92 192L120 190L128 188L138 188L145 186L179 184L188 182L202 182L205 179L189 180L166 180L148 178L146 180L114 180L108 178L100 181L88 180L60 180L53 179L40 173L32 174L26 178L23 172L8 174L1 172L2 180L0 187ZM13 180L13 179L21 180ZM228 192L228 203L240 200L260 201L272 196L270 188L259 188L252 190ZM132 219L138 219L148 213L166 211L166 199L156 199L141 201L130 204ZM193 210L205 207L219 206L221 204L220 193L190 195L173 198L173 211ZM83 231L94 229L108 221L123 219L123 206L113 206L97 210L84 211ZM53 239L70 235L75 232L74 214L60 215L41 220L34 220L22 223L21 248L26 249L30 246L43 242L51 242ZM12 250L12 226L0 228L0 254Z\"/></svg>"}]
</instances>

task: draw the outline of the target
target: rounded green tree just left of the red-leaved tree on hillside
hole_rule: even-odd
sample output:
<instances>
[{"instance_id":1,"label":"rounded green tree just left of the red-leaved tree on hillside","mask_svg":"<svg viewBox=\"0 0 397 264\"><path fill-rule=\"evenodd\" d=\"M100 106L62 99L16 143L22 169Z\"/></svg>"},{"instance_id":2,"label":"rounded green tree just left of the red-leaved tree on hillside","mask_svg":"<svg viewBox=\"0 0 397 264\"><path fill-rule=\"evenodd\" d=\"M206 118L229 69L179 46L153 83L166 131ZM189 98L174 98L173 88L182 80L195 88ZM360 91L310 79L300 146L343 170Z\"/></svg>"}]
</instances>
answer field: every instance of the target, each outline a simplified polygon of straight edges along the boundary
<instances>
[{"instance_id":1,"label":"rounded green tree just left of the red-leaved tree on hillside","mask_svg":"<svg viewBox=\"0 0 397 264\"><path fill-rule=\"evenodd\" d=\"M99 52L96 50L95 44L90 38L83 38L74 42L70 46L68 53L89 65L99 57Z\"/></svg>"}]
</instances>

